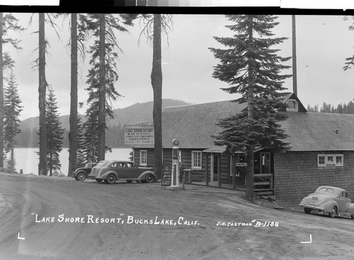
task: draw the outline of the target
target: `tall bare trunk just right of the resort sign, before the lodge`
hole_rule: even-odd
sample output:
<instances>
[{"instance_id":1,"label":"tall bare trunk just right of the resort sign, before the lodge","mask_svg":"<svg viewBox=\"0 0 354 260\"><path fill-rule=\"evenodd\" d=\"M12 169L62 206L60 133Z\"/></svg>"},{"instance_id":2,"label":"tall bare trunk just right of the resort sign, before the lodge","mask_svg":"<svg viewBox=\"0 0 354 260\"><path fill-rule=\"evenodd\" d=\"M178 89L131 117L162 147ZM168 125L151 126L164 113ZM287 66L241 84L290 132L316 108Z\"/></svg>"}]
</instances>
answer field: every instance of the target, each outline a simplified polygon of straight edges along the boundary
<instances>
[{"instance_id":1,"label":"tall bare trunk just right of the resort sign, before the lodge","mask_svg":"<svg viewBox=\"0 0 354 260\"><path fill-rule=\"evenodd\" d=\"M154 14L154 50L152 56L152 88L154 90L154 172L162 175L162 69L161 69L161 14ZM172 142L172 140L171 140Z\"/></svg>"}]
</instances>

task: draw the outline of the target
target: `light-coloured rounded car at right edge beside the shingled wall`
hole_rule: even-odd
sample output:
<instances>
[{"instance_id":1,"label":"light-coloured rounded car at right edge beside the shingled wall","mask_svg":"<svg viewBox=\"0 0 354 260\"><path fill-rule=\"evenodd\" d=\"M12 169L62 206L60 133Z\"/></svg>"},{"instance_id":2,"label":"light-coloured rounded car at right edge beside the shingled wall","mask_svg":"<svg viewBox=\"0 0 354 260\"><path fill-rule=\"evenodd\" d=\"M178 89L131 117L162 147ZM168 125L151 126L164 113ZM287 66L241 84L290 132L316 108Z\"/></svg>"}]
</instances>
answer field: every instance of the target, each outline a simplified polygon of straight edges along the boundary
<instances>
[{"instance_id":1,"label":"light-coloured rounded car at right edge beside the shingled wall","mask_svg":"<svg viewBox=\"0 0 354 260\"><path fill-rule=\"evenodd\" d=\"M314 210L331 218L346 215L354 219L354 203L351 203L346 190L337 187L320 186L314 193L302 199L299 206L302 206L307 214Z\"/></svg>"}]
</instances>

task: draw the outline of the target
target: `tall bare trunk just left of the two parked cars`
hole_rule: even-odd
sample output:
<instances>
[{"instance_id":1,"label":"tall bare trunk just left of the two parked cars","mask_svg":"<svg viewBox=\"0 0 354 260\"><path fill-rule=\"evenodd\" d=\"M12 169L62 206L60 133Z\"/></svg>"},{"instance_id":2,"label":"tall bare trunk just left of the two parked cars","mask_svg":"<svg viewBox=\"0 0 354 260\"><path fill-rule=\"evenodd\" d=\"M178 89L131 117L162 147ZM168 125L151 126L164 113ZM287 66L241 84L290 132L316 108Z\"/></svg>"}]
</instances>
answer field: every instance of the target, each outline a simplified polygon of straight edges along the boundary
<instances>
[{"instance_id":1,"label":"tall bare trunk just left of the two parked cars","mask_svg":"<svg viewBox=\"0 0 354 260\"><path fill-rule=\"evenodd\" d=\"M69 131L69 170L72 176L76 167L77 157L77 13L72 13L72 65L71 65L71 90L70 90L70 131Z\"/></svg>"}]
</instances>

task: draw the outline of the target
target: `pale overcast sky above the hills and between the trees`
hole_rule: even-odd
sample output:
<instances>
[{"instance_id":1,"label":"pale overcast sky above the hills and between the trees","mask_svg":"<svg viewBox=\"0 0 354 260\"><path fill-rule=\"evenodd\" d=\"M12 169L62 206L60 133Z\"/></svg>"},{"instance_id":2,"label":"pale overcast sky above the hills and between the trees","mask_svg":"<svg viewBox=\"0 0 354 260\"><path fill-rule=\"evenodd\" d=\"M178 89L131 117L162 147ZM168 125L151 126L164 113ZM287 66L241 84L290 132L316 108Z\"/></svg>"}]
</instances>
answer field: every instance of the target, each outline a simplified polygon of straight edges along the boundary
<instances>
[{"instance_id":1,"label":"pale overcast sky above the hills and between the trees","mask_svg":"<svg viewBox=\"0 0 354 260\"><path fill-rule=\"evenodd\" d=\"M19 23L27 28L22 34L12 37L21 39L21 49L16 52L5 46L16 61L14 73L21 96L23 112L21 119L38 117L38 70L33 61L38 57L38 13L13 13ZM30 16L33 15L29 25ZM282 57L292 56L291 16L278 16L280 24L273 29L276 37L288 37L276 46ZM69 114L70 102L70 55L69 20L57 20L60 40L55 30L46 25L46 38L50 44L46 57L47 83L54 88L59 114ZM297 37L297 95L303 105L331 103L335 107L354 98L354 68L343 71L346 57L354 54L354 31L348 30L352 18L343 16L298 15ZM237 95L225 93L220 88L227 85L212 78L215 59L209 47L224 48L213 36L229 37L232 31L225 27L231 24L223 15L174 14L173 30L162 39L163 98L183 100L193 104L234 100ZM152 70L152 45L139 34L143 24L137 20L129 32L117 32L118 45L122 49L118 60L118 81L115 87L122 98L113 103L113 108L124 108L137 102L153 100L150 74ZM87 44L89 48L90 43ZM79 62L79 102L86 100L86 76L89 69L89 54ZM289 61L287 65L292 65ZM292 70L284 71L292 73ZM292 92L292 79L285 84ZM83 109L79 110L84 114ZM123 122L124 123L124 122Z\"/></svg>"}]
</instances>

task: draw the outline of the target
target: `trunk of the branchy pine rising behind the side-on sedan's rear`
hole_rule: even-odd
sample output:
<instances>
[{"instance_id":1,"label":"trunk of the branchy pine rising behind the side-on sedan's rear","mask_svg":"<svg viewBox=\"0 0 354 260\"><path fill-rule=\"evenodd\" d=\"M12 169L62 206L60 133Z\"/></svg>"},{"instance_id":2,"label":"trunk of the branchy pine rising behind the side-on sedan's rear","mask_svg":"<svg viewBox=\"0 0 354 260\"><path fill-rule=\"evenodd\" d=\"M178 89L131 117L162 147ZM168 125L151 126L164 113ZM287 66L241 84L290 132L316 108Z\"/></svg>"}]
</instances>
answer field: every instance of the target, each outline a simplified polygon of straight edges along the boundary
<instances>
[{"instance_id":1,"label":"trunk of the branchy pine rising behind the side-on sedan's rear","mask_svg":"<svg viewBox=\"0 0 354 260\"><path fill-rule=\"evenodd\" d=\"M100 18L100 90L98 101L98 161L105 160L105 15Z\"/></svg>"}]
</instances>

